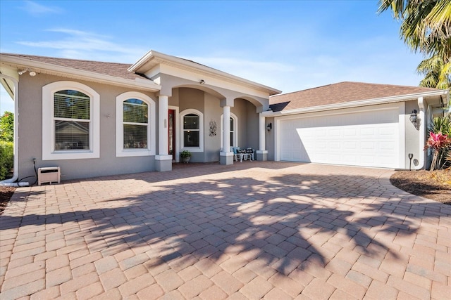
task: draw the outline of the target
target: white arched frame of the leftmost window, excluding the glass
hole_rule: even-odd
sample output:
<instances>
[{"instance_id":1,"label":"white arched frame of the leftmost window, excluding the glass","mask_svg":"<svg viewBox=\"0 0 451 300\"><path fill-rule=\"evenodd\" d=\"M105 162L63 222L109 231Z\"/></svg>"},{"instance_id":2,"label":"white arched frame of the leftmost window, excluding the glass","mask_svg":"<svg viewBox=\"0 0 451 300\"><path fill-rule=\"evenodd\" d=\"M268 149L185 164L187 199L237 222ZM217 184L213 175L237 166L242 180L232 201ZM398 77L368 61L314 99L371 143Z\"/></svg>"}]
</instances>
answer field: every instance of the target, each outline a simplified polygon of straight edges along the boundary
<instances>
[{"instance_id":1,"label":"white arched frame of the leftmost window, excluding the glass","mask_svg":"<svg viewBox=\"0 0 451 300\"><path fill-rule=\"evenodd\" d=\"M89 150L55 150L54 93L75 90L85 93L90 101ZM42 86L42 160L88 159L100 157L100 95L94 89L75 81L56 81Z\"/></svg>"}]
</instances>

